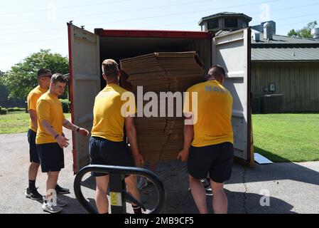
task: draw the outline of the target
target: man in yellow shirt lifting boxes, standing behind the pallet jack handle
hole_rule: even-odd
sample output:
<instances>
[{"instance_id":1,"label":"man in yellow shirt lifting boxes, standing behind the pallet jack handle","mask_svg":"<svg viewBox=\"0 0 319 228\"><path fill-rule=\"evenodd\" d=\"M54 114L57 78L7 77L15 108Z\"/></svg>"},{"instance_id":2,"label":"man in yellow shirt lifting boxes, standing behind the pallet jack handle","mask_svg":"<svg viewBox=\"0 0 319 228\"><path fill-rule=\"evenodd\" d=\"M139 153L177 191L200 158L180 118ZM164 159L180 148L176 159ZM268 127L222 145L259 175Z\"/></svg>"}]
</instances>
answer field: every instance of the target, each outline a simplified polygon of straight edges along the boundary
<instances>
[{"instance_id":1,"label":"man in yellow shirt lifting boxes, standing behind the pallet jack handle","mask_svg":"<svg viewBox=\"0 0 319 228\"><path fill-rule=\"evenodd\" d=\"M120 71L116 61L112 59L104 61L102 71L107 86L95 98L92 138L90 138L91 165L134 167L134 161L136 165L142 165L144 159L139 152L136 128L132 117L136 113L135 103L134 108L125 109L125 113L122 112L126 100L121 100L121 95L129 92L118 86ZM131 150L129 150L126 140L124 140L124 124ZM101 173L93 173L93 175L97 182L97 209L100 214L107 214L109 212L107 199L109 177ZM125 182L127 191L140 200L136 176L126 177ZM141 213L141 208L134 204L132 204L132 207L134 213Z\"/></svg>"}]
</instances>

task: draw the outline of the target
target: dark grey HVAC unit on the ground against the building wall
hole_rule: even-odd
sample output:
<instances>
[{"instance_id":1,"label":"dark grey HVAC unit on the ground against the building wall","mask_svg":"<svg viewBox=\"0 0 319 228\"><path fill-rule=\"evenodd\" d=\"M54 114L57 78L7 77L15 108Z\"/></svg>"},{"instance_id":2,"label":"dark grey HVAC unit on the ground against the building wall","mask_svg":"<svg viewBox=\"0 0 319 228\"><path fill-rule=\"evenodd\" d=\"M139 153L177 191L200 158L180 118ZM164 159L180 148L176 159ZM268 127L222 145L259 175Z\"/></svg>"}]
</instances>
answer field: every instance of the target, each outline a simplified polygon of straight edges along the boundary
<instances>
[{"instance_id":1,"label":"dark grey HVAC unit on the ground against the building wall","mask_svg":"<svg viewBox=\"0 0 319 228\"><path fill-rule=\"evenodd\" d=\"M261 112L264 114L283 113L283 94L262 95Z\"/></svg>"}]
</instances>

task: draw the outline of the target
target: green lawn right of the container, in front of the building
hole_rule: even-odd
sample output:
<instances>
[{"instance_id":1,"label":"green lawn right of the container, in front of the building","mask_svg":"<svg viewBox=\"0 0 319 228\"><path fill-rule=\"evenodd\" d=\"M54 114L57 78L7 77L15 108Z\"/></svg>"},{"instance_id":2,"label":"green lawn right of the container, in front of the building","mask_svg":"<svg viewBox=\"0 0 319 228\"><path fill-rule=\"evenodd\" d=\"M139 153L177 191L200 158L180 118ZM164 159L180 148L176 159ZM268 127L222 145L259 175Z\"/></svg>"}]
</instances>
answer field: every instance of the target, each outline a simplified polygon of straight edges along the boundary
<instances>
[{"instance_id":1,"label":"green lawn right of the container, in front of the building","mask_svg":"<svg viewBox=\"0 0 319 228\"><path fill-rule=\"evenodd\" d=\"M319 161L319 114L253 115L255 152L273 162Z\"/></svg>"}]
</instances>

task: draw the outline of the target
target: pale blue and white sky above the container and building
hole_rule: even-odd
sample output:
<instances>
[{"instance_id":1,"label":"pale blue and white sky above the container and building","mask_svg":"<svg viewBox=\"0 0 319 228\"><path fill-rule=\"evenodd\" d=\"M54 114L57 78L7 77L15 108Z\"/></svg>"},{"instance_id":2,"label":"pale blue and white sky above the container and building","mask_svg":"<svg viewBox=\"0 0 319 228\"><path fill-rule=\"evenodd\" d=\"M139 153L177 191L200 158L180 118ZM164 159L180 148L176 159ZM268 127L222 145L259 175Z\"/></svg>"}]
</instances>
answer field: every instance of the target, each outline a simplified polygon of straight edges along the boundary
<instances>
[{"instance_id":1,"label":"pale blue and white sky above the container and building","mask_svg":"<svg viewBox=\"0 0 319 228\"><path fill-rule=\"evenodd\" d=\"M0 71L40 49L67 56L67 21L88 31L147 29L200 31L202 17L223 11L251 16L249 24L276 21L276 33L287 35L311 21L319 22L318 0L29 0L1 1Z\"/></svg>"}]
</instances>

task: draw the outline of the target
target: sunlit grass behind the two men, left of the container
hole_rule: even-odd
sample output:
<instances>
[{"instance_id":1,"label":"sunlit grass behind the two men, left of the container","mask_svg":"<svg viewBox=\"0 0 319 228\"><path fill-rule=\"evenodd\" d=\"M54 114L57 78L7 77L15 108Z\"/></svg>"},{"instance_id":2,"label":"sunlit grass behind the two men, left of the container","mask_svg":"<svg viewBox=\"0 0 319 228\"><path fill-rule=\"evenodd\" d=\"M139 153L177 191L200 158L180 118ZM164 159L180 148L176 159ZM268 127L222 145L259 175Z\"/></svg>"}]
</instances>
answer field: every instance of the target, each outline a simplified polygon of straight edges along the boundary
<instances>
[{"instance_id":1,"label":"sunlit grass behind the two men, left of the container","mask_svg":"<svg viewBox=\"0 0 319 228\"><path fill-rule=\"evenodd\" d=\"M71 114L65 114L70 118ZM30 124L29 114L25 112L0 115L0 134L26 133Z\"/></svg>"}]
</instances>

